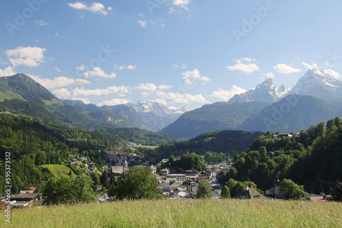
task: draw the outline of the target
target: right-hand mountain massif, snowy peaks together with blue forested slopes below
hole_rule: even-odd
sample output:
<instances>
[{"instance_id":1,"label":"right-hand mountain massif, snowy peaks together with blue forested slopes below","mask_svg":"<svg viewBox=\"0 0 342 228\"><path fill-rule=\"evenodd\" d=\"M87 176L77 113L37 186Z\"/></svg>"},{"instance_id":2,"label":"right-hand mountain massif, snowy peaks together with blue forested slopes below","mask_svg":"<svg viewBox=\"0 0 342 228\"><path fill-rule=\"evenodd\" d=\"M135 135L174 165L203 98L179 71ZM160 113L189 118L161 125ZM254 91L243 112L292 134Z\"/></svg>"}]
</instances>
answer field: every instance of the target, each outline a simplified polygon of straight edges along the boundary
<instances>
[{"instance_id":1,"label":"right-hand mountain massif, snowy peaks together with blue forested slopes below","mask_svg":"<svg viewBox=\"0 0 342 228\"><path fill-rule=\"evenodd\" d=\"M308 70L291 87L267 79L228 102L184 113L161 132L191 138L213 130L295 131L342 116L342 81L318 69Z\"/></svg>"}]
</instances>

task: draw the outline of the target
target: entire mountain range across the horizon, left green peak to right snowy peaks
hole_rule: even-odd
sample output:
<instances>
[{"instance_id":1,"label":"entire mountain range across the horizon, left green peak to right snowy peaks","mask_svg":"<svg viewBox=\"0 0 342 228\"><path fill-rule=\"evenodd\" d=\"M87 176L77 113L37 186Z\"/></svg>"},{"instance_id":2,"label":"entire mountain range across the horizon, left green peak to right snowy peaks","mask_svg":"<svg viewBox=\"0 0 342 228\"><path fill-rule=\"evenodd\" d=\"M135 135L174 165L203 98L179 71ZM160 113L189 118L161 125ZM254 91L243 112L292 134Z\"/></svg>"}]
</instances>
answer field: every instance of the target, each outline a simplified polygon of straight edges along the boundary
<instances>
[{"instance_id":1,"label":"entire mountain range across the horizon, left green peak to right snowy peaks","mask_svg":"<svg viewBox=\"0 0 342 228\"><path fill-rule=\"evenodd\" d=\"M60 100L25 74L0 78L1 105L17 113L78 128L142 128L175 139L213 130L295 131L342 116L342 81L321 70L308 70L291 87L267 79L228 102L188 111L152 101L96 106Z\"/></svg>"}]
</instances>

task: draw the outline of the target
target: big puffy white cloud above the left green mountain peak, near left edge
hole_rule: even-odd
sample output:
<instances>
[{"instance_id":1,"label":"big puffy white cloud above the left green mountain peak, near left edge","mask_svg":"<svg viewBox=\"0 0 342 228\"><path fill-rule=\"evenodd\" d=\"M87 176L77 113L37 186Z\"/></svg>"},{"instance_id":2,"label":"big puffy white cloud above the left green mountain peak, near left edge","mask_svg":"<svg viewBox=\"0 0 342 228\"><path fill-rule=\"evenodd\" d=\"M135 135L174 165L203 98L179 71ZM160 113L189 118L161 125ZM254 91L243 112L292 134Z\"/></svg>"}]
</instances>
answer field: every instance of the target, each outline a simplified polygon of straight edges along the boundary
<instances>
[{"instance_id":1,"label":"big puffy white cloud above the left green mountain peak, near left edge","mask_svg":"<svg viewBox=\"0 0 342 228\"><path fill-rule=\"evenodd\" d=\"M44 51L47 49L37 46L18 46L16 49L6 50L5 54L14 67L16 66L39 66L44 62Z\"/></svg>"}]
</instances>

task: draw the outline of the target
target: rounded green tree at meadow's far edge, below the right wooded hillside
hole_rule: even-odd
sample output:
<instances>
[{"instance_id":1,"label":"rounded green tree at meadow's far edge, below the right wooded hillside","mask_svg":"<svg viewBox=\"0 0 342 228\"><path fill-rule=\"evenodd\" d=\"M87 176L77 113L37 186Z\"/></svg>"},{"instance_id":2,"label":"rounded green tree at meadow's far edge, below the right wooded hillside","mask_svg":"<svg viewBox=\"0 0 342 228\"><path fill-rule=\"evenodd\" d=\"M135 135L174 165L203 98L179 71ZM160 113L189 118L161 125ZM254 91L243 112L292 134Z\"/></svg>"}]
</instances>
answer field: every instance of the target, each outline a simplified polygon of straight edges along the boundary
<instances>
[{"instance_id":1,"label":"rounded green tree at meadow's far edge, below the right wooded hillside","mask_svg":"<svg viewBox=\"0 0 342 228\"><path fill-rule=\"evenodd\" d=\"M284 192L285 199L302 199L308 197L308 193L304 191L304 186L295 184L292 180L282 180L280 190Z\"/></svg>"}]
</instances>

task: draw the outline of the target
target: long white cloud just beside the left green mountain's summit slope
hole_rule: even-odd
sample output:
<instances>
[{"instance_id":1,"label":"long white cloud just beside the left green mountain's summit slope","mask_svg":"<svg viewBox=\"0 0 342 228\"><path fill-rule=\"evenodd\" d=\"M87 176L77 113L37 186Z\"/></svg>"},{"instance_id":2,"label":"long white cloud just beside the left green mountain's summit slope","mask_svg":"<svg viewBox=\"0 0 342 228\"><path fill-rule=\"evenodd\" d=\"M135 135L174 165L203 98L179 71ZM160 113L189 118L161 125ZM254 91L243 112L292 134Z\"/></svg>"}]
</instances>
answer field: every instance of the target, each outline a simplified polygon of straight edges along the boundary
<instances>
[{"instance_id":1,"label":"long white cloud just beside the left green mountain's summit slope","mask_svg":"<svg viewBox=\"0 0 342 228\"><path fill-rule=\"evenodd\" d=\"M47 89L54 89L57 87L64 87L68 85L86 85L90 84L90 81L85 79L73 79L73 78L67 78L65 76L60 76L55 79L41 79L40 76L29 74L31 79L34 79L37 83L40 83L40 85L44 86Z\"/></svg>"}]
</instances>

